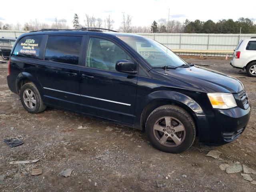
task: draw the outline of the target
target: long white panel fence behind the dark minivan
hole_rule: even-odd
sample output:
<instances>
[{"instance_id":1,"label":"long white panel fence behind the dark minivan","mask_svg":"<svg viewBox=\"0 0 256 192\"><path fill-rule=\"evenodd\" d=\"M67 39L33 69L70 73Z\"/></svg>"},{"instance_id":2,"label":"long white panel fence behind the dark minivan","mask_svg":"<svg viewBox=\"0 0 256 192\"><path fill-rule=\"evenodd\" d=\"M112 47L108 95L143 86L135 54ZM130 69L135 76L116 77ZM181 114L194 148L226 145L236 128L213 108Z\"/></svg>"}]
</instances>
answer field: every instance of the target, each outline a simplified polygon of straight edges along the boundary
<instances>
[{"instance_id":1,"label":"long white panel fence behind the dark minivan","mask_svg":"<svg viewBox=\"0 0 256 192\"><path fill-rule=\"evenodd\" d=\"M25 31L0 30L0 37L18 37ZM180 54L198 55L204 50L206 56L232 55L238 42L244 38L256 37L256 34L191 34L191 33L136 33L154 39ZM182 51L183 50L183 51ZM186 51L185 51L186 50ZM206 53L208 51L208 53ZM215 50L215 51L214 51ZM206 51L206 52L205 52ZM193 54L194 52L194 54ZM197 53L195 53L197 52ZM198 53L199 52L199 53ZM218 52L218 54L214 54Z\"/></svg>"}]
</instances>

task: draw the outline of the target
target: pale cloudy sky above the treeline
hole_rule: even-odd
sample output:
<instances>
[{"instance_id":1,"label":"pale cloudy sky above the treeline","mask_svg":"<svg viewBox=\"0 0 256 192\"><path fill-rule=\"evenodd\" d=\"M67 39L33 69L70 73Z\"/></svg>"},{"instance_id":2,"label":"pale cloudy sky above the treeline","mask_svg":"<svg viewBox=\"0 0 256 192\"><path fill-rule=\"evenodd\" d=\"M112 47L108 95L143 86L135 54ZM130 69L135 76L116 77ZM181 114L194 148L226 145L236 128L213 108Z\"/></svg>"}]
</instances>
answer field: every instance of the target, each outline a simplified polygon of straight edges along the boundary
<instances>
[{"instance_id":1,"label":"pale cloudy sky above the treeline","mask_svg":"<svg viewBox=\"0 0 256 192\"><path fill-rule=\"evenodd\" d=\"M37 19L52 24L54 18L66 19L72 27L74 14L78 14L80 24L84 25L85 14L104 19L110 15L114 20L114 29L122 22L122 13L132 16L132 26L150 26L154 20L168 19L185 22L188 20L218 20L240 17L256 22L256 0L36 0L30 3L12 0L1 2L0 21L3 23L24 24ZM104 25L104 24L103 24Z\"/></svg>"}]
</instances>

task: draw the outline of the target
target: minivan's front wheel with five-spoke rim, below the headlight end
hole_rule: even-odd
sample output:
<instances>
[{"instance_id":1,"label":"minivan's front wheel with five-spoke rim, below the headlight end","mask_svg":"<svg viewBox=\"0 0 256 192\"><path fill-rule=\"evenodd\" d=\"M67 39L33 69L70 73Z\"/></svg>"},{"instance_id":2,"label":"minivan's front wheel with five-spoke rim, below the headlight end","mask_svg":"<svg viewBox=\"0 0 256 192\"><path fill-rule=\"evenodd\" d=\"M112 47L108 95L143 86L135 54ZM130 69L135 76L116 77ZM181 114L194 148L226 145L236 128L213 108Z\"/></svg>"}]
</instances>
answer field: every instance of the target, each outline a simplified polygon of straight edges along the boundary
<instances>
[{"instance_id":1,"label":"minivan's front wheel with five-spoke rim, below the headlight end","mask_svg":"<svg viewBox=\"0 0 256 192\"><path fill-rule=\"evenodd\" d=\"M196 127L184 109L164 105L156 108L146 121L146 134L158 150L181 153L190 148L196 137Z\"/></svg>"}]
</instances>

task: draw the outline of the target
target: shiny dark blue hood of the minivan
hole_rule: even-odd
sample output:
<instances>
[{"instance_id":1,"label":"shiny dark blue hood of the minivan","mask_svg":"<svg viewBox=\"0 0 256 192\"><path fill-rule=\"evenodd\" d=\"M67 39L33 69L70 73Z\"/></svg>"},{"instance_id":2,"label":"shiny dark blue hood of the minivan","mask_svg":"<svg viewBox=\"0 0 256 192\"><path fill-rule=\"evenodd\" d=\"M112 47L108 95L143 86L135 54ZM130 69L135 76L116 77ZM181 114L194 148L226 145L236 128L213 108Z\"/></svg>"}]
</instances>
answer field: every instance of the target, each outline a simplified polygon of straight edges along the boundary
<instances>
[{"instance_id":1,"label":"shiny dark blue hood of the minivan","mask_svg":"<svg viewBox=\"0 0 256 192\"><path fill-rule=\"evenodd\" d=\"M155 71L161 74L161 79L177 88L226 93L238 93L243 90L242 83L236 78L199 66L167 69L167 75L164 75L162 69L155 69Z\"/></svg>"}]
</instances>

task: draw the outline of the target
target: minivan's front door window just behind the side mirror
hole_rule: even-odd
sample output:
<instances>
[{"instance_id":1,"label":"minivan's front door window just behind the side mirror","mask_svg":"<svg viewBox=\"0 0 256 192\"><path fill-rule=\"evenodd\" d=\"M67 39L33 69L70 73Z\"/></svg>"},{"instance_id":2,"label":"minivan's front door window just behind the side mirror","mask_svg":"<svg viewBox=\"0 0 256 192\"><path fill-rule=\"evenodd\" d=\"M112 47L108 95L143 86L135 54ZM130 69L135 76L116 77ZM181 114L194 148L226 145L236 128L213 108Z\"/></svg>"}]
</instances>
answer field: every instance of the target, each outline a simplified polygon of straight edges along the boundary
<instances>
[{"instance_id":1,"label":"minivan's front door window just behind the side mirror","mask_svg":"<svg viewBox=\"0 0 256 192\"><path fill-rule=\"evenodd\" d=\"M101 38L90 38L87 66L105 70L116 70L118 60L132 60L119 46Z\"/></svg>"}]
</instances>

